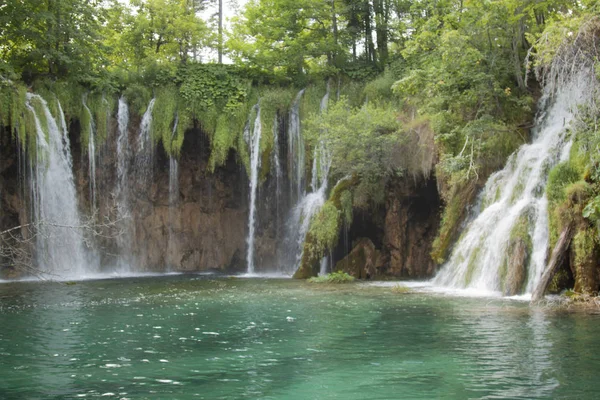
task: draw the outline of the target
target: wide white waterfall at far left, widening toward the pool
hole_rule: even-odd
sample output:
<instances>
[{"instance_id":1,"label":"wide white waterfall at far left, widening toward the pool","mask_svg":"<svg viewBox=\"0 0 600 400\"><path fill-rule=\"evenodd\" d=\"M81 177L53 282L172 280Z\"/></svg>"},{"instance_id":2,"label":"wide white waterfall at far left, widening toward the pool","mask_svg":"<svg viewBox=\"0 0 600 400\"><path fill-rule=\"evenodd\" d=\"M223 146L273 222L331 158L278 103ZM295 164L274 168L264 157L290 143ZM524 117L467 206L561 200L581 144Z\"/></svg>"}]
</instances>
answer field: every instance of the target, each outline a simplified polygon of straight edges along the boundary
<instances>
[{"instance_id":1,"label":"wide white waterfall at far left, widening toward the pool","mask_svg":"<svg viewBox=\"0 0 600 400\"><path fill-rule=\"evenodd\" d=\"M43 119L34 103L42 108ZM36 162L31 166L33 216L37 226L36 261L46 277L78 278L93 272L93 268L83 244L83 224L78 211L64 116L59 118L61 132L44 99L27 93L25 105L33 113L37 134ZM59 110L62 112L60 105ZM46 126L42 125L42 120Z\"/></svg>"}]
</instances>

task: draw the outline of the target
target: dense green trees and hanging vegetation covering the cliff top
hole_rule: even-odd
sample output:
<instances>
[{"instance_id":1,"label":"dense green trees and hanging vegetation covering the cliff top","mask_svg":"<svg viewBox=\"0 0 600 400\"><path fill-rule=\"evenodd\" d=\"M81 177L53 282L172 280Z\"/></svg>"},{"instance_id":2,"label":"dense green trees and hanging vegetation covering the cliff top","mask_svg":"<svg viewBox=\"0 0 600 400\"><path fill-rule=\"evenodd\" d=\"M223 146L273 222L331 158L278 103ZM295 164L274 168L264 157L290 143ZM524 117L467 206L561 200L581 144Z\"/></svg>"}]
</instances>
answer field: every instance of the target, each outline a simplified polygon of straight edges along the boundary
<instances>
[{"instance_id":1,"label":"dense green trees and hanging vegetation covering the cliff top","mask_svg":"<svg viewBox=\"0 0 600 400\"><path fill-rule=\"evenodd\" d=\"M36 92L79 122L87 149L108 136L119 97L140 117L154 98L151 135L168 155L178 157L185 135L200 128L210 143L207 173L235 151L250 175L244 127L254 105L270 132L305 89L306 154L324 144L330 180L340 183L310 222L299 276L314 275L353 211L382 206L391 181L432 175L443 211L431 257L443 263L487 178L531 139L542 87L563 78L557 65L576 52L577 68L600 76L595 0L251 0L229 23L222 1L1 5L0 124L35 153L26 95ZM565 66L564 73L573 71ZM325 91L331 101L323 109ZM594 106L582 110L570 157L552 169L546 189L550 247L572 225L573 259L593 271L597 118ZM271 168L273 141L259 143L259 181ZM523 236L518 226L513 233ZM576 287L594 292L593 281Z\"/></svg>"}]
</instances>

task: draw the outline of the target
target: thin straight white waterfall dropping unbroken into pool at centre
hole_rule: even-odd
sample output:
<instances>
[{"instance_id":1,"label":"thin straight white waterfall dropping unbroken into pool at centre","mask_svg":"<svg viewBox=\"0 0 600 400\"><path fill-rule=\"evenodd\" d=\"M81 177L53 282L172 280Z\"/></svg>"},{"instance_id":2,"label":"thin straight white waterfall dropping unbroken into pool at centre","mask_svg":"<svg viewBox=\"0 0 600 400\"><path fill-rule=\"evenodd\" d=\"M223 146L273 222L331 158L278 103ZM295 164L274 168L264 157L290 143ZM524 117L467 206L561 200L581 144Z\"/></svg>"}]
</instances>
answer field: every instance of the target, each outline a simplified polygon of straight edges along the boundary
<instances>
[{"instance_id":1,"label":"thin straight white waterfall dropping unbroken into pool at centre","mask_svg":"<svg viewBox=\"0 0 600 400\"><path fill-rule=\"evenodd\" d=\"M247 264L248 274L254 273L254 233L256 225L256 195L258 189L258 175L260 173L260 135L262 127L260 122L260 106L254 106L256 110L256 120L254 121L254 129L249 138L250 148L250 212L248 216L248 253ZM249 129L248 129L249 132Z\"/></svg>"}]
</instances>

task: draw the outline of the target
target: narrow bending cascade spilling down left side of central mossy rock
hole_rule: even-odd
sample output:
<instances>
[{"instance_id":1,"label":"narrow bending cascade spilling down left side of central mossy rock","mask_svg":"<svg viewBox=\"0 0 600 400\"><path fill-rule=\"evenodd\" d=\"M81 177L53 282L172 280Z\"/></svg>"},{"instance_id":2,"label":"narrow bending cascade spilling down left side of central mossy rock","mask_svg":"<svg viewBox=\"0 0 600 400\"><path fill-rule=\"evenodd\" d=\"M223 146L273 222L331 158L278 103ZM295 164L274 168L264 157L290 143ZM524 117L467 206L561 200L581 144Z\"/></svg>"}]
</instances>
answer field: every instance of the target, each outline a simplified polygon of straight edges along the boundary
<instances>
[{"instance_id":1,"label":"narrow bending cascade spilling down left side of central mossy rock","mask_svg":"<svg viewBox=\"0 0 600 400\"><path fill-rule=\"evenodd\" d=\"M329 102L329 85L327 93L321 99L321 113L327 111ZM288 255L293 259L288 259L287 264L296 268L302 260L302 251L304 240L310 228L312 218L319 212L327 200L327 184L329 178L329 169L331 168L331 152L325 142L320 140L315 146L313 153L313 164L311 173L311 193L300 197L298 203L292 210L291 218L287 226L287 240L289 242ZM326 266L326 261L322 266Z\"/></svg>"}]
</instances>

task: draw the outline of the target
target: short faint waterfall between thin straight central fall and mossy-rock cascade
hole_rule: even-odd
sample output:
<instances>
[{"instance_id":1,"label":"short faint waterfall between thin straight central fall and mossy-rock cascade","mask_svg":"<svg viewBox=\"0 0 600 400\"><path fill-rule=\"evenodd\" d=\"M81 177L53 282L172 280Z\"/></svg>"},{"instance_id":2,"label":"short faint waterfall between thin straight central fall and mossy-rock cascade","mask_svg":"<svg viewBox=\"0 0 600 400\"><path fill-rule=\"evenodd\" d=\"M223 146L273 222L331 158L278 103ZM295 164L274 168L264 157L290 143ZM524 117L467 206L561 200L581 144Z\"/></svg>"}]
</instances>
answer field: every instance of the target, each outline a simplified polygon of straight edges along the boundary
<instances>
[{"instance_id":1,"label":"short faint waterfall between thin straight central fall and mossy-rock cascade","mask_svg":"<svg viewBox=\"0 0 600 400\"><path fill-rule=\"evenodd\" d=\"M296 95L294 104L290 110L288 126L288 170L290 176L291 203L299 201L304 195L304 139L300 125L300 101L304 89ZM294 193L296 194L293 197Z\"/></svg>"}]
</instances>

